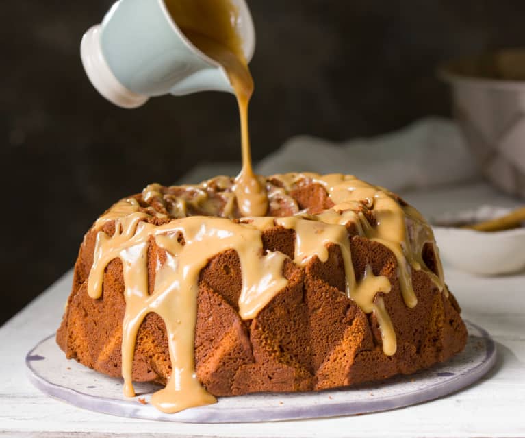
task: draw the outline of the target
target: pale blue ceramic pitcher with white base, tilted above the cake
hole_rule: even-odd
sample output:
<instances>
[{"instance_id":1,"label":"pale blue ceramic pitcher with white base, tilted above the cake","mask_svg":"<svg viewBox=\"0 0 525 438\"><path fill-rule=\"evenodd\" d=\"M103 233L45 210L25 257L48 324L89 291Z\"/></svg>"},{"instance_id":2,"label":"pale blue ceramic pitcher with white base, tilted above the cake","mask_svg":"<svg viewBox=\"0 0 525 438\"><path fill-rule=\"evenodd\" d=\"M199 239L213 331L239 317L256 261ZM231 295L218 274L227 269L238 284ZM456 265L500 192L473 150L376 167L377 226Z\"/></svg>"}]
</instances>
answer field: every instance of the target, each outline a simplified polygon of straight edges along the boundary
<instances>
[{"instance_id":1,"label":"pale blue ceramic pitcher with white base, tilted above the cake","mask_svg":"<svg viewBox=\"0 0 525 438\"><path fill-rule=\"evenodd\" d=\"M237 32L248 62L255 29L246 1L238 8ZM119 0L81 42L81 59L95 88L123 108L149 97L216 90L233 93L225 69L197 49L173 21L164 0Z\"/></svg>"}]
</instances>

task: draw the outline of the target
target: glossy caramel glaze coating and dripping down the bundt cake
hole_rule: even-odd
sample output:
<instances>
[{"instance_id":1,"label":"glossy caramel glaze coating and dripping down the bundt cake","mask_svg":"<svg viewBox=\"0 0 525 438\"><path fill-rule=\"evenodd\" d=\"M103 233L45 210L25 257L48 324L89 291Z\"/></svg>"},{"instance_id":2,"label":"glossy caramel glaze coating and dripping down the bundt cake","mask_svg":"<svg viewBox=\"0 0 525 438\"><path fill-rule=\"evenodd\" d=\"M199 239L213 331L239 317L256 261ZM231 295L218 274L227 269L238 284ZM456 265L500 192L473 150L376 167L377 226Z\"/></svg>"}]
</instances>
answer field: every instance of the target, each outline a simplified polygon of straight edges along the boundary
<instances>
[{"instance_id":1,"label":"glossy caramel glaze coating and dripping down the bundt cake","mask_svg":"<svg viewBox=\"0 0 525 438\"><path fill-rule=\"evenodd\" d=\"M126 311L123 321L122 364L125 395L133 396L131 379L138 328L144 317L157 313L166 324L172 374L152 402L165 412L215 402L197 380L194 365L194 331L199 273L216 254L235 250L242 270L239 299L242 319L253 319L286 285L283 265L287 256L264 251L261 234L280 226L294 230L294 263L303 267L312 258L328 259L327 245L340 247L346 276L346 295L379 323L386 355L396 352L396 333L383 298L392 288L385 276L370 267L356 276L350 252L349 229L391 250L398 260L398 278L405 304L417 304L411 272L422 270L436 287L446 292L439 257L437 275L426 267L422 252L430 244L437 252L431 228L422 216L384 188L346 175L290 173L265 180L270 211L287 217L244 217L236 201L237 181L218 177L196 186L146 187L140 197L116 203L94 224L98 229L94 263L88 278L90 297L101 297L105 267L114 258L123 263ZM290 191L301 184L324 187L333 206L312 214L300 211ZM140 208L140 204L148 208ZM146 221L162 219L162 225ZM370 220L370 217L373 219ZM114 221L115 232L102 227ZM166 222L167 221L167 222ZM155 286L148 293L147 252L151 239L166 252L157 260ZM362 277L362 278L361 278ZM357 281L356 278L361 278Z\"/></svg>"}]
</instances>

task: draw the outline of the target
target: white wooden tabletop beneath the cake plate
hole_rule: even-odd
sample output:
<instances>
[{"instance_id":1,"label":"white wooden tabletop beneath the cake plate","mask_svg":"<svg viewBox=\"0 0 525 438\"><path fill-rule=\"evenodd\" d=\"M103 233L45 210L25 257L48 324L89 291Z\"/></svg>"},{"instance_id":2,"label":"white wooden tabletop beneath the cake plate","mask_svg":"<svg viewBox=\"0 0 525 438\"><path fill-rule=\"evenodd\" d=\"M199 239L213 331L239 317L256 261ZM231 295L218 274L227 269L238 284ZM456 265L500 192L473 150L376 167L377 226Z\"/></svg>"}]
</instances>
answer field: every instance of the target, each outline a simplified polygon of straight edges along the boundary
<instances>
[{"instance_id":1,"label":"white wooden tabletop beneath the cake plate","mask_svg":"<svg viewBox=\"0 0 525 438\"><path fill-rule=\"evenodd\" d=\"M481 203L517 204L484 184L405 197L426 215ZM432 402L355 417L259 424L177 424L83 411L47 398L29 384L25 354L56 330L71 286L68 272L0 328L0 435L524 437L525 274L476 278L446 267L446 280L463 308L463 317L488 330L497 343L496 367L475 385Z\"/></svg>"}]
</instances>

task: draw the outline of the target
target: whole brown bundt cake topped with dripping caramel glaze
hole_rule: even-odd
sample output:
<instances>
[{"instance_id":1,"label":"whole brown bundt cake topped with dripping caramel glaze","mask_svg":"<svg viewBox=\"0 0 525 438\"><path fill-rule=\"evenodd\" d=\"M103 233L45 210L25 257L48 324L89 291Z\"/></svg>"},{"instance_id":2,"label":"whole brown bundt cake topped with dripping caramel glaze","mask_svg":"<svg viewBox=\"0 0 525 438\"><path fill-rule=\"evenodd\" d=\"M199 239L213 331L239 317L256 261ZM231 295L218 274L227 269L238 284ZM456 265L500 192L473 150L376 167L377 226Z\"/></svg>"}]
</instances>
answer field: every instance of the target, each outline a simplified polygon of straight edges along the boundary
<instances>
[{"instance_id":1,"label":"whole brown bundt cake topped with dripping caramel glaze","mask_svg":"<svg viewBox=\"0 0 525 438\"><path fill-rule=\"evenodd\" d=\"M214 396L318 391L410 374L465 346L431 228L345 175L259 177L264 217L234 180L151 184L84 237L57 343L109 376L166 385L175 412Z\"/></svg>"}]
</instances>

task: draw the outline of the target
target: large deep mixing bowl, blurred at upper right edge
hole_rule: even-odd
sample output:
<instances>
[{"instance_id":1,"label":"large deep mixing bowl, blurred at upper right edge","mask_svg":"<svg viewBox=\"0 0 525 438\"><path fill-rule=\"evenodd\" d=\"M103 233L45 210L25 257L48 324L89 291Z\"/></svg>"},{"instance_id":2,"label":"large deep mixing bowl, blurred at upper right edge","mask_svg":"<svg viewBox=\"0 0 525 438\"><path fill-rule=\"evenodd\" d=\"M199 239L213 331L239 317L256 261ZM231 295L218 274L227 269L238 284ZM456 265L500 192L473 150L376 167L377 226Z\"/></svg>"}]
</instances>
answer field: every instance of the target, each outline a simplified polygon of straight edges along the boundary
<instances>
[{"instance_id":1,"label":"large deep mixing bowl, blurred at upper right edge","mask_svg":"<svg viewBox=\"0 0 525 438\"><path fill-rule=\"evenodd\" d=\"M454 113L484 175L525 197L525 49L446 64Z\"/></svg>"}]
</instances>

